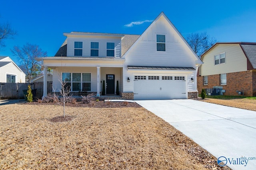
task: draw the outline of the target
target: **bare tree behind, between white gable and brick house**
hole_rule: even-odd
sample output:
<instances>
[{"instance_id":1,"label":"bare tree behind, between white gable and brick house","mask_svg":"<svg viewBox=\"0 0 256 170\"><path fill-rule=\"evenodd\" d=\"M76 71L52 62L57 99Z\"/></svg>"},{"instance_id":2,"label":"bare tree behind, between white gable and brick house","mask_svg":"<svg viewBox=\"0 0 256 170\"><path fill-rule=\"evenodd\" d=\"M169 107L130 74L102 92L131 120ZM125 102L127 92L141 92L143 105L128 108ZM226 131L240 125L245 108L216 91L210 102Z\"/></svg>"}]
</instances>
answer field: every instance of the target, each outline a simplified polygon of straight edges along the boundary
<instances>
[{"instance_id":1,"label":"bare tree behind, between white gable and brick house","mask_svg":"<svg viewBox=\"0 0 256 170\"><path fill-rule=\"evenodd\" d=\"M206 32L188 34L186 36L186 41L198 57L217 42L215 37L210 37Z\"/></svg>"}]
</instances>

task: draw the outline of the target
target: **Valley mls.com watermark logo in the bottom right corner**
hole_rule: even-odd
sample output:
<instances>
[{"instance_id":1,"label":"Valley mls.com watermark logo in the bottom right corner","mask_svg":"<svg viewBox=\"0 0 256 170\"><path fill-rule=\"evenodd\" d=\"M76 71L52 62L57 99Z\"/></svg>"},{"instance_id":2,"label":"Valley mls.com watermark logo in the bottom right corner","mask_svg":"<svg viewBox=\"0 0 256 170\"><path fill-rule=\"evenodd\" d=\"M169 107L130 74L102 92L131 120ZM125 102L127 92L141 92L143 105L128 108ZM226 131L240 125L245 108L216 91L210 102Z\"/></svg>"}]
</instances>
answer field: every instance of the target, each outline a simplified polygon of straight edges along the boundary
<instances>
[{"instance_id":1,"label":"Valley mls.com watermark logo in the bottom right corner","mask_svg":"<svg viewBox=\"0 0 256 170\"><path fill-rule=\"evenodd\" d=\"M251 160L256 160L256 158L245 156L242 156L241 158L226 158L225 156L220 156L217 160L217 163L219 166L228 166L229 164L246 166Z\"/></svg>"}]
</instances>

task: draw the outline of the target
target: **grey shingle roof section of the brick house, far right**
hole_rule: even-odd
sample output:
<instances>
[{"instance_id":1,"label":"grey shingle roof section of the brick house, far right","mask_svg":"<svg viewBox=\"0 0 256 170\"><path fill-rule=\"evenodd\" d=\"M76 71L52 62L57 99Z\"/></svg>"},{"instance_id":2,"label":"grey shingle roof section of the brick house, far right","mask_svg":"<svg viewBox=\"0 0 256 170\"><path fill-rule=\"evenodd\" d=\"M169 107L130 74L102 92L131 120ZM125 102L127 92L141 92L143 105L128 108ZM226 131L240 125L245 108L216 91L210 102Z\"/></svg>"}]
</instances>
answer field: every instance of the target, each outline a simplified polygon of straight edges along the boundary
<instances>
[{"instance_id":1,"label":"grey shingle roof section of the brick house, far right","mask_svg":"<svg viewBox=\"0 0 256 170\"><path fill-rule=\"evenodd\" d=\"M249 59L252 67L256 69L256 43L255 44L241 44L241 47Z\"/></svg>"}]
</instances>

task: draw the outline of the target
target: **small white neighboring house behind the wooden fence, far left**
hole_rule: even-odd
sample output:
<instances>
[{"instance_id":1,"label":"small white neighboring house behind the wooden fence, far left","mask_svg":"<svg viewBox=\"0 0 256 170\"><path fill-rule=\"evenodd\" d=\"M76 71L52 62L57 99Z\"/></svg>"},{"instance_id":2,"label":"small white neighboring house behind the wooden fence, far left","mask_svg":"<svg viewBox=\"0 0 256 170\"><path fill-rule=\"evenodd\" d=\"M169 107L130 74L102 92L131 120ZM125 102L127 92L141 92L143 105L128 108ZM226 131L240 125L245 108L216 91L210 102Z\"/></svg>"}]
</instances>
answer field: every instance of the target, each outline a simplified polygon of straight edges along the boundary
<instances>
[{"instance_id":1,"label":"small white neighboring house behind the wooden fence, far left","mask_svg":"<svg viewBox=\"0 0 256 170\"><path fill-rule=\"evenodd\" d=\"M0 57L0 82L25 83L25 76L10 57Z\"/></svg>"}]
</instances>

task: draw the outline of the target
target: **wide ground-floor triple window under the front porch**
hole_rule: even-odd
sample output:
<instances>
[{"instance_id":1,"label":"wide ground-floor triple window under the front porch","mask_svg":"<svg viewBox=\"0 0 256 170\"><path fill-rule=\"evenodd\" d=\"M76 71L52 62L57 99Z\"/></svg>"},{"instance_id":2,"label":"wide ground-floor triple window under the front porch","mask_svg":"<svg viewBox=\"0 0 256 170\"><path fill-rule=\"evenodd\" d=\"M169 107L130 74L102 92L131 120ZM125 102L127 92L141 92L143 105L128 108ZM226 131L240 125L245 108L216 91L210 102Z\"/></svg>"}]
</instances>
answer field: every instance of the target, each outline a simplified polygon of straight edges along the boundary
<instances>
[{"instance_id":1,"label":"wide ground-floor triple window under the front porch","mask_svg":"<svg viewBox=\"0 0 256 170\"><path fill-rule=\"evenodd\" d=\"M62 73L64 88L71 88L71 91L91 91L91 73Z\"/></svg>"}]
</instances>

